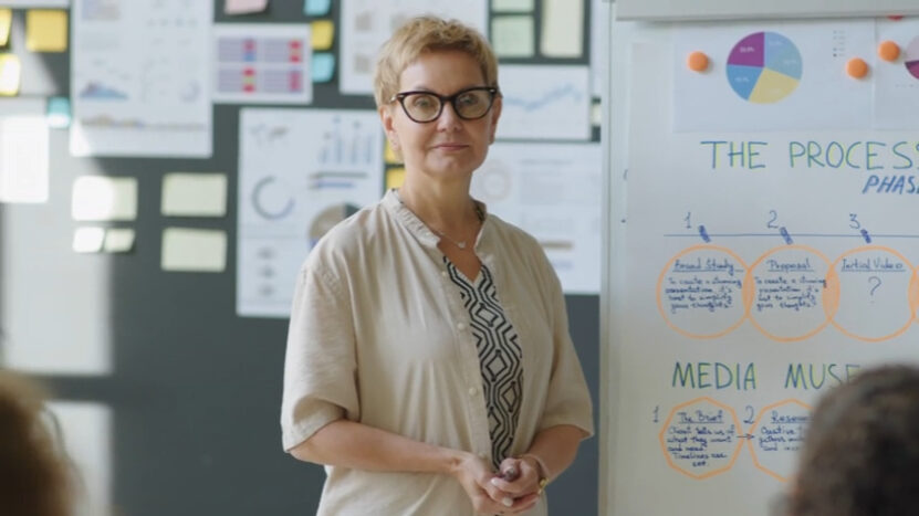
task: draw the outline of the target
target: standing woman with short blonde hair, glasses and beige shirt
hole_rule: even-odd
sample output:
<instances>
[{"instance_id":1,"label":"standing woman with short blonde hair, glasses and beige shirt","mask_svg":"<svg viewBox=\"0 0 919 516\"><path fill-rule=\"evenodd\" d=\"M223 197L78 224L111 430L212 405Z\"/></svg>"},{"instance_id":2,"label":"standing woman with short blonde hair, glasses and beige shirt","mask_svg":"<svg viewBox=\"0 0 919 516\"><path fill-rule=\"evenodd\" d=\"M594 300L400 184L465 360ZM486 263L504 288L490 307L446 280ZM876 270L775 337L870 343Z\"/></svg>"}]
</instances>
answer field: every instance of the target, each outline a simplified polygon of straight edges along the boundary
<instances>
[{"instance_id":1,"label":"standing woman with short blonde hair, glasses and beige shirt","mask_svg":"<svg viewBox=\"0 0 919 516\"><path fill-rule=\"evenodd\" d=\"M374 83L406 179L301 270L284 449L328 466L321 515L544 515L591 400L543 251L469 194L501 114L497 61L478 32L417 18Z\"/></svg>"}]
</instances>

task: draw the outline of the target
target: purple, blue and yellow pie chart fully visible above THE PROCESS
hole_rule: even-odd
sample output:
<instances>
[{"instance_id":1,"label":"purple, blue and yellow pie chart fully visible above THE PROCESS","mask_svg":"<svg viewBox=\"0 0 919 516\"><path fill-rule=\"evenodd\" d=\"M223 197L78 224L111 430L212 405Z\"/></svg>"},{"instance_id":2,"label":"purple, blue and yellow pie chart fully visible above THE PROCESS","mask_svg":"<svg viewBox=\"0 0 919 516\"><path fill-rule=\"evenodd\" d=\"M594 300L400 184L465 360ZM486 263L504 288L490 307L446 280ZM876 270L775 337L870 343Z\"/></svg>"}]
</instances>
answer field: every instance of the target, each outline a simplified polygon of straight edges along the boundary
<instances>
[{"instance_id":1,"label":"purple, blue and yellow pie chart fully visible above THE PROCESS","mask_svg":"<svg viewBox=\"0 0 919 516\"><path fill-rule=\"evenodd\" d=\"M916 50L919 55L919 44ZM728 56L728 83L741 98L755 104L791 95L802 73L801 52L777 32L754 32L738 41Z\"/></svg>"}]
</instances>

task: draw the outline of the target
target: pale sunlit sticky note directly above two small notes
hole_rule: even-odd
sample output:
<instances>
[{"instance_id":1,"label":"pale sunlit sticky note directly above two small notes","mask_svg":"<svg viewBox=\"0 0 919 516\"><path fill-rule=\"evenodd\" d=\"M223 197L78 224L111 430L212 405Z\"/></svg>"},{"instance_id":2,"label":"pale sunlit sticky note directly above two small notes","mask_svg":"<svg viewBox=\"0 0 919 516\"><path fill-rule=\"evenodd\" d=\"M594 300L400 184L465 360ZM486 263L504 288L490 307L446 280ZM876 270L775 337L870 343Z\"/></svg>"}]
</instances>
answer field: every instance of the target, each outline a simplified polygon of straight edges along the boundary
<instances>
[{"instance_id":1,"label":"pale sunlit sticky note directly above two small notes","mask_svg":"<svg viewBox=\"0 0 919 516\"><path fill-rule=\"evenodd\" d=\"M137 179L83 176L73 182L74 220L134 220Z\"/></svg>"}]
</instances>

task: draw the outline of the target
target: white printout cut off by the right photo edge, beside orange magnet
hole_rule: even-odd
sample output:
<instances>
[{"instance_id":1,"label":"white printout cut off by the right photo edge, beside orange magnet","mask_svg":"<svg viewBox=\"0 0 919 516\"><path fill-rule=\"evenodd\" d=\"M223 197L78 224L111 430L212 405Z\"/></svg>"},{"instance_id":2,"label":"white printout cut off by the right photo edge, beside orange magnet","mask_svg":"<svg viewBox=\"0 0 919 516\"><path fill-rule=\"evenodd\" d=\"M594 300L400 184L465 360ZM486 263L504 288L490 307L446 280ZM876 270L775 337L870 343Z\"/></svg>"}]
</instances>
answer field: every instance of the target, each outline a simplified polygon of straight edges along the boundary
<instances>
[{"instance_id":1,"label":"white printout cut off by the right photo edge, beside orange magnet","mask_svg":"<svg viewBox=\"0 0 919 516\"><path fill-rule=\"evenodd\" d=\"M919 20L878 20L877 41L900 46L892 63L876 60L875 128L916 129L919 119Z\"/></svg>"}]
</instances>

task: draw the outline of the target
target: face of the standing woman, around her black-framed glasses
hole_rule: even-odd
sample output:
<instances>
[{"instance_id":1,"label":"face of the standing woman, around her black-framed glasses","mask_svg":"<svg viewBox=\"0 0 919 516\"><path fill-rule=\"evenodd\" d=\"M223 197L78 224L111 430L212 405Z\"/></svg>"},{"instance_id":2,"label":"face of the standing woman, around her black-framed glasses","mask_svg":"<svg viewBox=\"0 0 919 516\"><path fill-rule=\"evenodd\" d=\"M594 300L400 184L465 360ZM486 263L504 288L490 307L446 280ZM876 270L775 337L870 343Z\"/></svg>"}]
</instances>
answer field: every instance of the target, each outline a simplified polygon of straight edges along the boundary
<instances>
[{"instance_id":1,"label":"face of the standing woman, around her black-framed glasses","mask_svg":"<svg viewBox=\"0 0 919 516\"><path fill-rule=\"evenodd\" d=\"M441 96L481 86L488 84L479 63L458 51L421 54L403 71L399 81L399 92L425 91ZM440 116L428 123L414 122L398 101L380 107L379 113L390 144L401 152L407 173L468 181L494 139L501 98L495 97L491 110L474 120L458 117L449 102Z\"/></svg>"}]
</instances>

